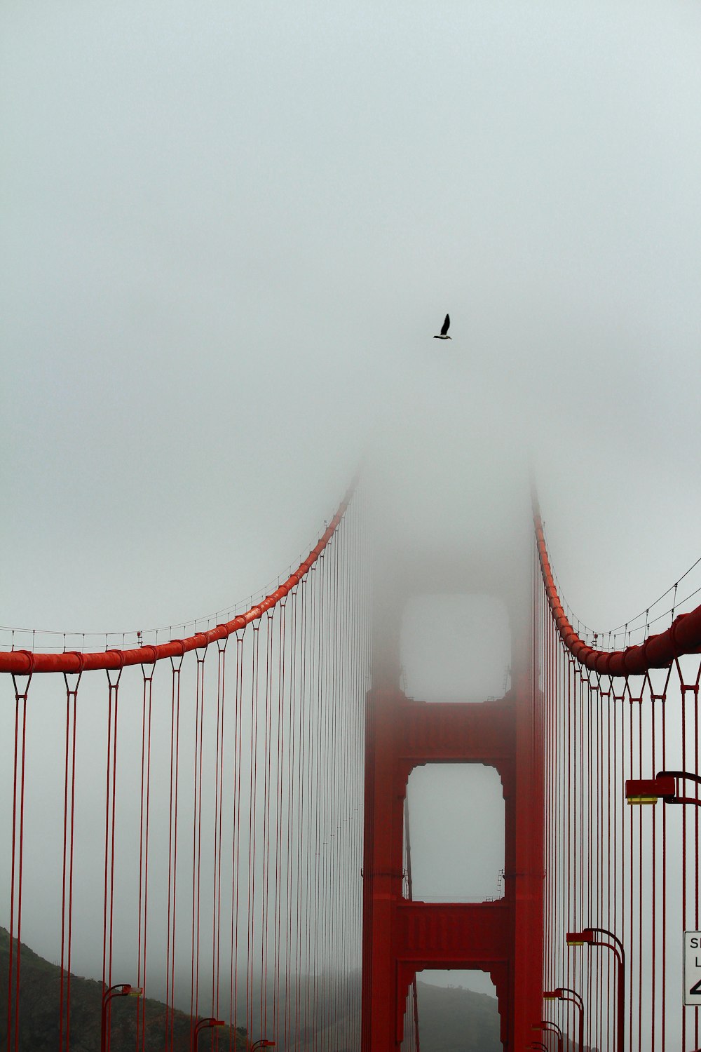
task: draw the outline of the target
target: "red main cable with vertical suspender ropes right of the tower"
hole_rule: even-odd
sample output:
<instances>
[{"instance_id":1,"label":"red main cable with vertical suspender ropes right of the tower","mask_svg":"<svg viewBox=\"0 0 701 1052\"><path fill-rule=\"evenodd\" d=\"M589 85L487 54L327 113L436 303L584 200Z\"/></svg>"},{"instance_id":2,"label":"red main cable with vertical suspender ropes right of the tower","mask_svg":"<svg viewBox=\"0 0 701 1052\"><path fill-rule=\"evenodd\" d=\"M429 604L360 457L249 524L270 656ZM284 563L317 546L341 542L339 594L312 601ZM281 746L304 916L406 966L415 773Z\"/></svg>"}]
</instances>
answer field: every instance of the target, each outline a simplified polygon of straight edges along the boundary
<instances>
[{"instance_id":1,"label":"red main cable with vertical suspender ropes right of the tower","mask_svg":"<svg viewBox=\"0 0 701 1052\"><path fill-rule=\"evenodd\" d=\"M701 926L701 661L682 660L701 652L701 607L641 646L590 647L562 608L535 501L534 524L547 709L544 985L581 992L591 1048L698 1048L701 1020L682 1006L678 968L682 932ZM569 1006L553 1007L572 1039ZM579 1028L581 1045L581 1016Z\"/></svg>"}]
</instances>

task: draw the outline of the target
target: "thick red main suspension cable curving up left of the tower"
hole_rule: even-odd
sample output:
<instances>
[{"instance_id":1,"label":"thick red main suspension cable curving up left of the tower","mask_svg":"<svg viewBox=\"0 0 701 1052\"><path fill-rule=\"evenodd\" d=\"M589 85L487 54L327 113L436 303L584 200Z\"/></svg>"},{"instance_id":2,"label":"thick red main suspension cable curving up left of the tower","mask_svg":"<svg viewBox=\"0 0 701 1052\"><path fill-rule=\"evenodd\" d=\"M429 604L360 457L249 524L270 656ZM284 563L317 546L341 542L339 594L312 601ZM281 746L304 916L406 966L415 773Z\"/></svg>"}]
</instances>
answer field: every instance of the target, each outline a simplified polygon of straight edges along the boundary
<instances>
[{"instance_id":1,"label":"thick red main suspension cable curving up left of the tower","mask_svg":"<svg viewBox=\"0 0 701 1052\"><path fill-rule=\"evenodd\" d=\"M318 543L311 549L309 554L297 566L294 573L290 573L287 581L279 585L274 591L266 595L264 600L252 606L246 613L241 613L231 621L217 625L215 628L206 632L197 632L183 640L170 640L168 643L159 643L156 646L136 647L132 650L103 650L99 652L82 652L70 650L61 654L37 653L32 650L5 650L0 651L0 672L13 672L15 675L32 675L35 672L86 672L94 669L120 669L125 665L152 665L157 661L165 658L182 658L190 650L200 650L209 646L218 640L226 640L234 632L241 631L251 622L260 621L264 613L276 606L285 596L300 584L306 576L322 552L327 547L329 541L335 533L338 524L346 514L348 505L355 490L356 480L351 483L348 492L344 497L338 510L324 530Z\"/></svg>"}]
</instances>

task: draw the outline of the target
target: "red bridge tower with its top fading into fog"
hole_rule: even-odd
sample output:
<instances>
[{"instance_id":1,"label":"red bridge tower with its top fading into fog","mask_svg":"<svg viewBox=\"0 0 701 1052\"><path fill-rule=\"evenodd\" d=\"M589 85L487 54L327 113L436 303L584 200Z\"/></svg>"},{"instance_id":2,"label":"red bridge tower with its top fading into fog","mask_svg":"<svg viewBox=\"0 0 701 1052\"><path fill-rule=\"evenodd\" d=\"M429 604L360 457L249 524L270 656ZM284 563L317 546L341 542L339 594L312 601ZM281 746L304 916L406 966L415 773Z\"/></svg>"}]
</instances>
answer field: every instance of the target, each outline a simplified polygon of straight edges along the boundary
<instances>
[{"instance_id":1,"label":"red bridge tower with its top fading into fog","mask_svg":"<svg viewBox=\"0 0 701 1052\"><path fill-rule=\"evenodd\" d=\"M483 567L472 578L469 587L455 588L451 573L442 588L432 580L421 591L488 592L504 600L515 641L512 687L496 701L408 697L400 689L399 654L408 592L397 581L409 578L394 576L376 602L366 709L363 1052L399 1049L409 987L425 968L490 974L507 1052L523 1048L533 1036L531 1026L542 1017L543 753L528 642L533 626L524 613L530 589L521 588L515 598L513 579L508 585L484 580ZM415 574L409 580L409 594L417 593ZM468 904L404 897L407 785L411 771L428 763L478 763L498 772L506 814L501 899Z\"/></svg>"}]
</instances>

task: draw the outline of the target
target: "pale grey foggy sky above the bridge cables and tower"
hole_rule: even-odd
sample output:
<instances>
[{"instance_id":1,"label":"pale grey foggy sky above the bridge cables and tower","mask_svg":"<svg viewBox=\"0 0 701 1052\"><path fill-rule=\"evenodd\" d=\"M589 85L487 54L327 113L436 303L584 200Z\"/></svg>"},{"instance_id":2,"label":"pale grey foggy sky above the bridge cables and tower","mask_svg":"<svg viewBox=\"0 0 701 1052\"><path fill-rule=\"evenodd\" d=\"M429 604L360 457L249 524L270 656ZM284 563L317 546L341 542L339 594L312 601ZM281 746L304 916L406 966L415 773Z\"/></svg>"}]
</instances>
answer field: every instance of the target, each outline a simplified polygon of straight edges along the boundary
<instances>
[{"instance_id":1,"label":"pale grey foggy sky above the bridge cables and tower","mask_svg":"<svg viewBox=\"0 0 701 1052\"><path fill-rule=\"evenodd\" d=\"M701 554L700 98L690 0L5 0L0 624L244 599L368 449L473 552L531 457L572 606L644 608Z\"/></svg>"}]
</instances>

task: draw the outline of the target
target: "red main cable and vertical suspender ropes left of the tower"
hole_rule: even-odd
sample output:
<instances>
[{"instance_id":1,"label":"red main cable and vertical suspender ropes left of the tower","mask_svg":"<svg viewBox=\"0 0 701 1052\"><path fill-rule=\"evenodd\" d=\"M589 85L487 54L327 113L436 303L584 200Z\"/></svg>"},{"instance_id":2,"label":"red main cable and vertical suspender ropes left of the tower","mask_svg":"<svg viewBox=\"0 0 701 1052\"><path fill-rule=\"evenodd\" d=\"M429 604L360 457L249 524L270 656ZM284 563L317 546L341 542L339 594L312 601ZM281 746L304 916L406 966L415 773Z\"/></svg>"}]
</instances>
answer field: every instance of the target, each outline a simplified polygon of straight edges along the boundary
<instances>
[{"instance_id":1,"label":"red main cable and vertical suspender ropes left of the tower","mask_svg":"<svg viewBox=\"0 0 701 1052\"><path fill-rule=\"evenodd\" d=\"M161 662L156 692L156 649L135 652L143 672L136 676L121 675L121 665L136 662L117 651L120 670L90 684L84 731L84 676L45 676L36 705L27 694L37 681L13 676L14 740L0 741L13 786L2 845L9 870L3 1049L33 1041L22 918L37 903L61 910L39 947L58 957L60 940L50 1024L58 1034L48 1038L59 1052L78 1037L71 959L97 962L100 950L106 1050L109 990L136 990L116 987L112 976L136 978L144 992L133 1020L139 1050L181 1047L187 1024L176 1019L174 1004L188 983L193 1046L198 1030L222 1019L229 1033L219 1035L221 1045L212 1034L212 1048L239 1047L242 1029L248 1046L266 1035L256 1047L300 1048L310 1034L314 1045L326 1035L325 1047L329 1034L343 1047L355 1041L370 622L369 579L357 561L362 508L356 498L345 514L347 505L296 573L248 615L193 636L189 661L180 660L187 641L161 648L176 656ZM228 647L222 628L235 631ZM76 656L90 667L82 659L94 655ZM63 721L43 719L51 690L66 700ZM37 771L40 792L30 782ZM76 911L102 924L76 928ZM165 973L158 1013L146 995L154 972Z\"/></svg>"}]
</instances>

